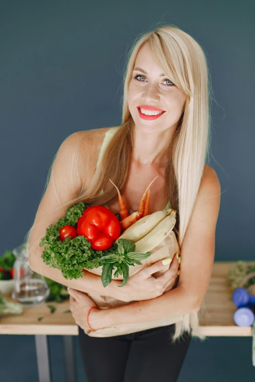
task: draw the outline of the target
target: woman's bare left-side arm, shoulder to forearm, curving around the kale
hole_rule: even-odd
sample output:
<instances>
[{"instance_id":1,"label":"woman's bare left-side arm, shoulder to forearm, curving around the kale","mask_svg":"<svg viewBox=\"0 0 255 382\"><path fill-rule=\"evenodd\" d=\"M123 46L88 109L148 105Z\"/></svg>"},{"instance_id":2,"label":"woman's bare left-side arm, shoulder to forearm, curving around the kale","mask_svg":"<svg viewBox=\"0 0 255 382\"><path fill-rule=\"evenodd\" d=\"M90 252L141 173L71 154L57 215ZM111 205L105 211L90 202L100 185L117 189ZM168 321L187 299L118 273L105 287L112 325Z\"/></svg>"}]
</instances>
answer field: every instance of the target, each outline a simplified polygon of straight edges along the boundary
<instances>
[{"instance_id":1,"label":"woman's bare left-side arm, shoulder to forearm, curving around the kale","mask_svg":"<svg viewBox=\"0 0 255 382\"><path fill-rule=\"evenodd\" d=\"M91 137L91 134L84 131L73 133L62 142L53 163L50 180L38 207L29 238L29 265L38 274L71 288L126 301L122 288L117 286L121 285L122 281L113 280L104 288L101 277L87 271L82 278L66 280L59 269L45 264L41 257L44 247L40 247L39 243L45 236L46 228L50 224L56 224L60 218L64 217L66 208L62 207L63 203L75 199L80 190L80 177L77 171L72 171L72 154L82 141L85 146L90 146L95 145L93 140L95 139ZM85 164L83 162L83 165Z\"/></svg>"}]
</instances>

